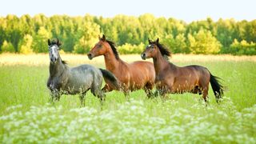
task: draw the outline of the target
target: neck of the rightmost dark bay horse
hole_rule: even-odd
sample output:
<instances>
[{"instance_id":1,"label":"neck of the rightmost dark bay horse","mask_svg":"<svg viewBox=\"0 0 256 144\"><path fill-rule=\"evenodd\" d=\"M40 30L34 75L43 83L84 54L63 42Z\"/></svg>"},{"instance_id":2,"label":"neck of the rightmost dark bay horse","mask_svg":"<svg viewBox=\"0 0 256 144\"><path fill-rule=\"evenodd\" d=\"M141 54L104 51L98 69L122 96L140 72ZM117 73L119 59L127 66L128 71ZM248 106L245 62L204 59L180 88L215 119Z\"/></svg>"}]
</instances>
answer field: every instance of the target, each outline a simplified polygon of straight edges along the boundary
<instances>
[{"instance_id":1,"label":"neck of the rightmost dark bay horse","mask_svg":"<svg viewBox=\"0 0 256 144\"><path fill-rule=\"evenodd\" d=\"M161 73L162 70L166 68L166 66L169 66L169 62L166 60L166 58L163 58L160 51L158 51L158 54L153 57L154 62L154 70L156 74Z\"/></svg>"}]
</instances>

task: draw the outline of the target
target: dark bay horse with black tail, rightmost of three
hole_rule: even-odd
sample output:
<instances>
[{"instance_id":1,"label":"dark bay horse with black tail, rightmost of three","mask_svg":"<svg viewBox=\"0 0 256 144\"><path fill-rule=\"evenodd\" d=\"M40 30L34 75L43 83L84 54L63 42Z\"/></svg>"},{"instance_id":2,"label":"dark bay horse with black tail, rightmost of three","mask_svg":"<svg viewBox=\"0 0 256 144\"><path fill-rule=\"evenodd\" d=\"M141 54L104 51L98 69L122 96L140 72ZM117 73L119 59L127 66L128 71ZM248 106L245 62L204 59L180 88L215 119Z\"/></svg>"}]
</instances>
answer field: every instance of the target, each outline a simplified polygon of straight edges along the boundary
<instances>
[{"instance_id":1,"label":"dark bay horse with black tail, rightmost of three","mask_svg":"<svg viewBox=\"0 0 256 144\"><path fill-rule=\"evenodd\" d=\"M156 74L155 84L162 96L167 93L190 92L202 94L202 98L207 102L210 82L216 101L219 102L219 98L222 98L223 86L218 82L218 77L210 74L206 67L175 66L166 59L170 56L170 51L159 43L159 39L155 42L149 39L149 46L146 46L146 50L141 56L142 59L153 58Z\"/></svg>"}]
</instances>

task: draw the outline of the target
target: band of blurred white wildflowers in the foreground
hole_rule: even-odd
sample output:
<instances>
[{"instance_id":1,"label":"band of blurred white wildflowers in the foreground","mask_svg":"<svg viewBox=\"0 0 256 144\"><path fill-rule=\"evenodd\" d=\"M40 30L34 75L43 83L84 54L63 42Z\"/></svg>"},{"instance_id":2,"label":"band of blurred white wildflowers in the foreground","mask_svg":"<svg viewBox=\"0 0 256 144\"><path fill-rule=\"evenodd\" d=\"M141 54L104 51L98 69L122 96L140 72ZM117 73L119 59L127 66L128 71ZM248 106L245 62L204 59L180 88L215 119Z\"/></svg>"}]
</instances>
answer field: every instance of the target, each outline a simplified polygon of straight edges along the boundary
<instances>
[{"instance_id":1,"label":"band of blurred white wildflowers in the foreground","mask_svg":"<svg viewBox=\"0 0 256 144\"><path fill-rule=\"evenodd\" d=\"M62 106L11 106L0 117L1 143L255 143L256 105L236 110L230 100L220 106L142 100L115 109ZM226 102L225 102L226 101Z\"/></svg>"}]
</instances>

